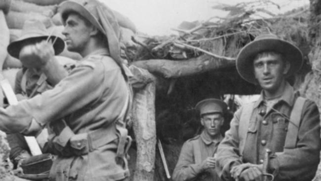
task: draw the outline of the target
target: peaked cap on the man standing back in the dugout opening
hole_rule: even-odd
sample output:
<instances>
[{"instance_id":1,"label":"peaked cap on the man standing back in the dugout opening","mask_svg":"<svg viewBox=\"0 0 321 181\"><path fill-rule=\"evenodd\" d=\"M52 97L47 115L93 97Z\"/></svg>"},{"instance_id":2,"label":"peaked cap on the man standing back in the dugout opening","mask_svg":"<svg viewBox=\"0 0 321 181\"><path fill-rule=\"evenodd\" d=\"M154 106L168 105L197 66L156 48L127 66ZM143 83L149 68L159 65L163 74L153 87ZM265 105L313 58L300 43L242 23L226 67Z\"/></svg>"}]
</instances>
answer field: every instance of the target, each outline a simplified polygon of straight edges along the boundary
<instances>
[{"instance_id":1,"label":"peaked cap on the man standing back in the dugout opening","mask_svg":"<svg viewBox=\"0 0 321 181\"><path fill-rule=\"evenodd\" d=\"M228 108L228 105L220 99L216 98L208 98L199 101L195 109L199 111L200 115L204 114L214 114L214 113L221 113L224 114Z\"/></svg>"}]
</instances>

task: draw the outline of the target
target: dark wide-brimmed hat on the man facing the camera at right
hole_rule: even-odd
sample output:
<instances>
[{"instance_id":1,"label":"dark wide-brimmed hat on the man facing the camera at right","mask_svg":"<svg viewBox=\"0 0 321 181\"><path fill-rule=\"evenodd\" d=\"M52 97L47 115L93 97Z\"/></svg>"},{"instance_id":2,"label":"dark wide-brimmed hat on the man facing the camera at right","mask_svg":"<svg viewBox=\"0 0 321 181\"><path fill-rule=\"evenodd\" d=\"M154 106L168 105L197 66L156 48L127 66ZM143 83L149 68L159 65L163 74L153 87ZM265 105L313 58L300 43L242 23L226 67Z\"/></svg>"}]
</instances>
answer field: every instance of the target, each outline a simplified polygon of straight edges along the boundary
<instances>
[{"instance_id":1,"label":"dark wide-brimmed hat on the man facing the camera at right","mask_svg":"<svg viewBox=\"0 0 321 181\"><path fill-rule=\"evenodd\" d=\"M260 35L253 42L245 45L237 55L236 69L244 80L257 84L253 71L253 60L258 53L264 51L281 53L284 60L290 63L290 69L285 75L286 77L300 70L303 64L303 55L297 46L273 34Z\"/></svg>"}]
</instances>

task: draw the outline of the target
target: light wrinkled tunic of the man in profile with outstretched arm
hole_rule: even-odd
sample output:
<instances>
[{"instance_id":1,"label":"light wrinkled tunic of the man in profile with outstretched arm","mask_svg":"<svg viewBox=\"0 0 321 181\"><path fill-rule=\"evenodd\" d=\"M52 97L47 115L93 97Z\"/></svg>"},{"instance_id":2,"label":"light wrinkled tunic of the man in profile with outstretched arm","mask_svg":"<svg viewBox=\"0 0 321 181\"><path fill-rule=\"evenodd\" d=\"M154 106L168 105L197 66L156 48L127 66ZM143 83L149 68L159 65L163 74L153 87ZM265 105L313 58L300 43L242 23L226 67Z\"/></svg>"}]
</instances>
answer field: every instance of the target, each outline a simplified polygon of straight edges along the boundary
<instances>
[{"instance_id":1,"label":"light wrinkled tunic of the man in profile with outstretched arm","mask_svg":"<svg viewBox=\"0 0 321 181\"><path fill-rule=\"evenodd\" d=\"M120 67L99 49L79 62L52 90L22 100L18 105L0 108L0 129L5 132L24 132L36 120L40 125L64 118L74 134L89 133L115 127L129 94ZM20 124L11 124L14 122ZM52 122L50 122L52 121ZM19 125L19 126L12 126ZM108 138L108 137L107 137ZM60 139L61 145L70 145L69 139ZM56 181L114 181L127 177L124 168L115 161L118 139L90 150L88 154L65 156L55 160L50 175Z\"/></svg>"}]
</instances>

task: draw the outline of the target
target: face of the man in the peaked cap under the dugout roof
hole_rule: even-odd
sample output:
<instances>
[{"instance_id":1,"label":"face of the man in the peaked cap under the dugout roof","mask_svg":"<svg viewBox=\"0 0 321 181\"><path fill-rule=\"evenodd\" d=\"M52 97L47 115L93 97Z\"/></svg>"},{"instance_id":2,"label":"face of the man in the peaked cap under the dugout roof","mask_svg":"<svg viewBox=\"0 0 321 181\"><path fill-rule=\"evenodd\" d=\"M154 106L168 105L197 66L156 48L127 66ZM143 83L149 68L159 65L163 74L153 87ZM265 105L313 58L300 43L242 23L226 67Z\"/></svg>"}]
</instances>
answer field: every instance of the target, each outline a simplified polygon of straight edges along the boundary
<instances>
[{"instance_id":1,"label":"face of the man in the peaked cap under the dugout roof","mask_svg":"<svg viewBox=\"0 0 321 181\"><path fill-rule=\"evenodd\" d=\"M201 124L204 127L205 134L211 137L221 134L223 122L224 118L220 113L207 114L201 118Z\"/></svg>"}]
</instances>

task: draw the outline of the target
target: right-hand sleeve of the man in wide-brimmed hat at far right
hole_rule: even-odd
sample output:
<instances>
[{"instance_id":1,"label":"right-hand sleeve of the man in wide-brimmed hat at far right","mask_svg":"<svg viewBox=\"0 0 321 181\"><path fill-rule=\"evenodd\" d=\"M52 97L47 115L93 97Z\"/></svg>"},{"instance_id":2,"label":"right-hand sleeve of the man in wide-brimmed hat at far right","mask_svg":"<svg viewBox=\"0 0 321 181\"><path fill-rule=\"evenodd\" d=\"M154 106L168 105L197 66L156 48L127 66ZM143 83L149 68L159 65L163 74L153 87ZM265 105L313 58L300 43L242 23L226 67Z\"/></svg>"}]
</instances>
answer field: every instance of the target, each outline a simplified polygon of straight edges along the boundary
<instances>
[{"instance_id":1,"label":"right-hand sleeve of the man in wide-brimmed hat at far right","mask_svg":"<svg viewBox=\"0 0 321 181\"><path fill-rule=\"evenodd\" d=\"M284 149L271 159L271 171L276 180L311 180L320 161L320 116L317 105L305 102L296 148Z\"/></svg>"}]
</instances>

